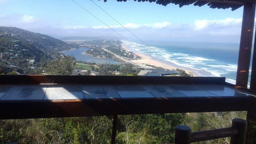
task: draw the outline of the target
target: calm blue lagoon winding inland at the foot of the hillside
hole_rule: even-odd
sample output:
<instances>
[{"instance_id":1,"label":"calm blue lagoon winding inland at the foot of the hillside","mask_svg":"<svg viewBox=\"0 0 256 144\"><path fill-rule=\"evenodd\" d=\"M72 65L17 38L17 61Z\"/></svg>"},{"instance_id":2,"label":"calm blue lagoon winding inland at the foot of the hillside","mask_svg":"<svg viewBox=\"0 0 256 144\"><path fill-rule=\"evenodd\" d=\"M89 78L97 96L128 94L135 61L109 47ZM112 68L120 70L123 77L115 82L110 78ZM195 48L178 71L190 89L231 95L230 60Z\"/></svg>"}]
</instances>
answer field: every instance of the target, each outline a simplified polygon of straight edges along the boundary
<instances>
[{"instance_id":1,"label":"calm blue lagoon winding inland at the foot of the hillside","mask_svg":"<svg viewBox=\"0 0 256 144\"><path fill-rule=\"evenodd\" d=\"M118 64L119 62L116 62L112 59L106 59L106 58L95 58L92 57L92 55L84 55L82 52L86 52L89 48L79 48L79 49L73 49L73 50L66 50L65 52L62 52L62 54L65 55L71 55L78 61L83 62L90 62L90 63L110 63L110 64Z\"/></svg>"}]
</instances>

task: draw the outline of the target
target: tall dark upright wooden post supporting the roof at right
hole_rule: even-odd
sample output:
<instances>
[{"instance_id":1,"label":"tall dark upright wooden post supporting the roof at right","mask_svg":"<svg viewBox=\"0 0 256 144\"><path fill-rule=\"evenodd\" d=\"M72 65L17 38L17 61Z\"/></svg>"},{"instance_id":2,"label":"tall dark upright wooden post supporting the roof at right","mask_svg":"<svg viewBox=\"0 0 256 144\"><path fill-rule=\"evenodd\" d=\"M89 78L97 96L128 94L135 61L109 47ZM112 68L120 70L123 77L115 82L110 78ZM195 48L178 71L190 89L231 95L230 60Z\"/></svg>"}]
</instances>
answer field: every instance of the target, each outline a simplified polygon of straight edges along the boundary
<instances>
[{"instance_id":1,"label":"tall dark upright wooden post supporting the roof at right","mask_svg":"<svg viewBox=\"0 0 256 144\"><path fill-rule=\"evenodd\" d=\"M252 34L254 31L255 2L244 3L242 16L242 30L238 57L238 71L236 85L247 87L249 78L250 54L252 48Z\"/></svg>"}]
</instances>

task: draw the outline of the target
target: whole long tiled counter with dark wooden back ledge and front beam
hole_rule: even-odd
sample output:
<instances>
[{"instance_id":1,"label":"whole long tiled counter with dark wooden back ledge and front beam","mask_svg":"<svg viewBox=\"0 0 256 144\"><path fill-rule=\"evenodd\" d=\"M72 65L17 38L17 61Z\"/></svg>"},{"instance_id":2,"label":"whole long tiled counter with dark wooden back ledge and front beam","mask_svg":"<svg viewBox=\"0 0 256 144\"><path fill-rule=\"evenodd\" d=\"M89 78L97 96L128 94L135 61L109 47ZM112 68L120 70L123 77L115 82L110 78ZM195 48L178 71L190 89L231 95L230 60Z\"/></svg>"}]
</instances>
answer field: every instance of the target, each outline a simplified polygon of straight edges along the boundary
<instances>
[{"instance_id":1,"label":"whole long tiled counter with dark wooden back ledge and front beam","mask_svg":"<svg viewBox=\"0 0 256 144\"><path fill-rule=\"evenodd\" d=\"M242 111L253 92L225 78L0 76L0 119Z\"/></svg>"}]
</instances>

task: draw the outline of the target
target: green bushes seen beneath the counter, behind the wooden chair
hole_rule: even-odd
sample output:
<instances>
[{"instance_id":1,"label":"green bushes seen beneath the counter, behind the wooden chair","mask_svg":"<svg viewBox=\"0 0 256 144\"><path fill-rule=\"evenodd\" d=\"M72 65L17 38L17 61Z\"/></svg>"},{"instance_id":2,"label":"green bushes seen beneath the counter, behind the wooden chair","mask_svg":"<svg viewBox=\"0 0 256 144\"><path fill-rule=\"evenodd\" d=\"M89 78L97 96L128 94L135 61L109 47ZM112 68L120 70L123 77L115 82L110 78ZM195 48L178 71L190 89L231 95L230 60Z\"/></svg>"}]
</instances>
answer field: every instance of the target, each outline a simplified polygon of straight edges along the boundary
<instances>
[{"instance_id":1,"label":"green bushes seen beneath the counter, behind the wooden chair","mask_svg":"<svg viewBox=\"0 0 256 144\"><path fill-rule=\"evenodd\" d=\"M116 143L174 143L175 126L192 131L230 127L246 112L136 114L118 116ZM110 143L112 119L106 116L0 120L1 143ZM229 138L204 143L229 143Z\"/></svg>"}]
</instances>

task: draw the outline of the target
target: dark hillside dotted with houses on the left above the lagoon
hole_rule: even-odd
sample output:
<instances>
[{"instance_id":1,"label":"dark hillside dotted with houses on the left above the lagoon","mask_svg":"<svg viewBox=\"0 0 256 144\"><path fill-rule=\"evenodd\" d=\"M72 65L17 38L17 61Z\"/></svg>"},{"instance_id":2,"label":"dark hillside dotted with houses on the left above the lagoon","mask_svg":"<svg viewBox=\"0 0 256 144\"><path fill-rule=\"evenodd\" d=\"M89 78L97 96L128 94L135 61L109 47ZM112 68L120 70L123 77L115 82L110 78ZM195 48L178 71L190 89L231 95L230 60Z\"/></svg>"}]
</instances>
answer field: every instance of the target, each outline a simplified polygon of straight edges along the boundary
<instances>
[{"instance_id":1,"label":"dark hillside dotted with houses on the left above the lagoon","mask_svg":"<svg viewBox=\"0 0 256 144\"><path fill-rule=\"evenodd\" d=\"M0 26L0 68L31 71L68 46L44 34Z\"/></svg>"}]
</instances>

